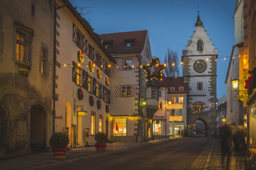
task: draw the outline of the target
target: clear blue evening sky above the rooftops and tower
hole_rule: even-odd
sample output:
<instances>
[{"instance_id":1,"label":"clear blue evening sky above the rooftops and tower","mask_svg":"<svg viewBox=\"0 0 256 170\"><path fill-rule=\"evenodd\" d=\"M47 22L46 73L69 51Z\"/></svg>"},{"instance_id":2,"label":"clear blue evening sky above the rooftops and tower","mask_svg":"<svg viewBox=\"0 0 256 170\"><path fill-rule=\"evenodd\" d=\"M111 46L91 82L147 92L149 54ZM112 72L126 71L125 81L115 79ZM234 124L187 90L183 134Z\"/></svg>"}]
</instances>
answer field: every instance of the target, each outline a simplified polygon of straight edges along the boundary
<instances>
[{"instance_id":1,"label":"clear blue evening sky above the rooftops and tower","mask_svg":"<svg viewBox=\"0 0 256 170\"><path fill-rule=\"evenodd\" d=\"M164 61L167 48L182 50L195 30L200 18L207 34L219 49L219 57L230 56L235 43L234 19L235 0L70 0L83 10L84 17L97 34L131 32L147 29L152 56ZM197 8L198 6L198 8ZM78 9L78 12L80 10ZM226 94L226 71L228 60L217 60L217 99ZM182 76L182 66L180 66Z\"/></svg>"}]
</instances>

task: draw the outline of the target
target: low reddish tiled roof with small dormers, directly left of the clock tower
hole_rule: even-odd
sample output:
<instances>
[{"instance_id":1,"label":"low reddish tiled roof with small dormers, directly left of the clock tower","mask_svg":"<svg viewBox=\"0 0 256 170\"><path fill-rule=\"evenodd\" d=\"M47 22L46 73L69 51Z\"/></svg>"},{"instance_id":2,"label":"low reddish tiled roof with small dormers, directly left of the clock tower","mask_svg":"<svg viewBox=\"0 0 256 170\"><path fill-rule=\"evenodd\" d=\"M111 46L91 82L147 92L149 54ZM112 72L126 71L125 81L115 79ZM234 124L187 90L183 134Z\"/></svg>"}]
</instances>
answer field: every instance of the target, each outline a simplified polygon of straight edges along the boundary
<instances>
[{"instance_id":1,"label":"low reddish tiled roof with small dormers, directly left of the clock tower","mask_svg":"<svg viewBox=\"0 0 256 170\"><path fill-rule=\"evenodd\" d=\"M184 77L162 77L162 81L153 80L147 82L147 86L166 87L168 94L175 93L187 93L187 83L184 82ZM179 91L179 87L183 86L184 90ZM171 87L175 88L175 91L171 91Z\"/></svg>"}]
</instances>

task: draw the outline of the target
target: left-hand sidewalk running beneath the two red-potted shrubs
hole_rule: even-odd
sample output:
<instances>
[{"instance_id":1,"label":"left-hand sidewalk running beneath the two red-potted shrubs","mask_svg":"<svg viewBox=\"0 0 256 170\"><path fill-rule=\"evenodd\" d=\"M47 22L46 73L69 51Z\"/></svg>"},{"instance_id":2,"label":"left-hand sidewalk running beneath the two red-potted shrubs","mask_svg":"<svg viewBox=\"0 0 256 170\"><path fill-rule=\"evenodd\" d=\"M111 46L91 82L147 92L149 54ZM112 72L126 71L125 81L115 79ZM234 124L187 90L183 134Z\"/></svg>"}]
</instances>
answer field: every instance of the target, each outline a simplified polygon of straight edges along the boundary
<instances>
[{"instance_id":1,"label":"left-hand sidewalk running beneath the two red-potted shrubs","mask_svg":"<svg viewBox=\"0 0 256 170\"><path fill-rule=\"evenodd\" d=\"M63 160L54 159L52 152L43 152L39 154L28 154L25 156L19 156L16 158L8 158L0 160L1 170L19 170L19 169L39 169L48 167L49 165L58 165L64 162L72 162L83 158L92 158L94 156L113 154L120 151L134 149L136 147L143 147L152 145L153 143L159 143L167 141L169 138L163 138L155 141L149 141L145 143L107 143L105 151L96 151L94 146L75 148L67 151L67 157Z\"/></svg>"}]
</instances>

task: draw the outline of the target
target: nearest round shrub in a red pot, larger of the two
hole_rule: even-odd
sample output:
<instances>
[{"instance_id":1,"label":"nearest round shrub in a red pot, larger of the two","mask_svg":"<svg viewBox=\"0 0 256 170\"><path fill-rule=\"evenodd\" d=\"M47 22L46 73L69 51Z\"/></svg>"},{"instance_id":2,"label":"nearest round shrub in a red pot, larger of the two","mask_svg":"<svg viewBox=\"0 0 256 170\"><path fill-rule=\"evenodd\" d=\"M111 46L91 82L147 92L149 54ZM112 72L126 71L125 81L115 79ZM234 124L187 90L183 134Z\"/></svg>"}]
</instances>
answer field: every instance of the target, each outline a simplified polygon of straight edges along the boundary
<instances>
[{"instance_id":1,"label":"nearest round shrub in a red pot, larger of the two","mask_svg":"<svg viewBox=\"0 0 256 170\"><path fill-rule=\"evenodd\" d=\"M70 143L70 139L66 134L61 132L55 132L50 138L50 147L52 153L56 159L64 159L67 154L67 144Z\"/></svg>"}]
</instances>

